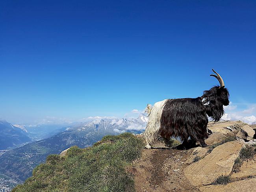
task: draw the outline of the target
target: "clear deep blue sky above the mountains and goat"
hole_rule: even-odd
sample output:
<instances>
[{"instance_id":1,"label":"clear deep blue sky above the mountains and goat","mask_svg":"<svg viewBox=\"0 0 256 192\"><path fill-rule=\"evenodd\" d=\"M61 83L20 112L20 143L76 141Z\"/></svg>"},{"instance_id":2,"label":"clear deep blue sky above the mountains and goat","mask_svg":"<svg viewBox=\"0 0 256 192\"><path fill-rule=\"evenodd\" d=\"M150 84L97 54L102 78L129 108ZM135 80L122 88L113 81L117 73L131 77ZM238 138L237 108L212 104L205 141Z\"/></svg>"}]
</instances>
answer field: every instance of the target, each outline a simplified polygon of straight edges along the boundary
<instances>
[{"instance_id":1,"label":"clear deep blue sky above the mountains and goat","mask_svg":"<svg viewBox=\"0 0 256 192\"><path fill-rule=\"evenodd\" d=\"M230 91L256 115L256 1L0 1L0 118L122 117L165 98ZM240 115L240 117L237 117Z\"/></svg>"}]
</instances>

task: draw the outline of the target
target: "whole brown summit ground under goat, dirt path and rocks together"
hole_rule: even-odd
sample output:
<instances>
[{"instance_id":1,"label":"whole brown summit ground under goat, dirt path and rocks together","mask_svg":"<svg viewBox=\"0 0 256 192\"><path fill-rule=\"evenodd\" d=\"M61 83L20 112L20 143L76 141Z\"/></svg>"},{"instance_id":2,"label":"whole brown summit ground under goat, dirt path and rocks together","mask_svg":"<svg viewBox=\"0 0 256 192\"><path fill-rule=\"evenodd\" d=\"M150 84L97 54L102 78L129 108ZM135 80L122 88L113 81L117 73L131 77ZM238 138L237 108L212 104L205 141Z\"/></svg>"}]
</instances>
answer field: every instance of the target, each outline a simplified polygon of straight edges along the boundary
<instances>
[{"instance_id":1,"label":"whole brown summit ground under goat, dirt path and rocks together","mask_svg":"<svg viewBox=\"0 0 256 192\"><path fill-rule=\"evenodd\" d=\"M134 162L137 192L248 192L256 188L255 127L209 122L207 148L176 150L157 141ZM139 136L138 136L139 137Z\"/></svg>"}]
</instances>

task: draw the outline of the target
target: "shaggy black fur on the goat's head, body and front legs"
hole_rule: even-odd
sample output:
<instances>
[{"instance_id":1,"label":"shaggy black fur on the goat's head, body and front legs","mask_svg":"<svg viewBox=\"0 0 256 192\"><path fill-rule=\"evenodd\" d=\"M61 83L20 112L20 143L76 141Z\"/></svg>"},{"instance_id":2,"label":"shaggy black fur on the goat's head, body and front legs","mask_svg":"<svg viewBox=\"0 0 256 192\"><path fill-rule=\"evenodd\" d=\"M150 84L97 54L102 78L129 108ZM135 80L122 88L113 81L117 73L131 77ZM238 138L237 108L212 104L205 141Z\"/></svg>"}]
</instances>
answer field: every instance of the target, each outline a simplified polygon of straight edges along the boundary
<instances>
[{"instance_id":1,"label":"shaggy black fur on the goat's head, body and front legs","mask_svg":"<svg viewBox=\"0 0 256 192\"><path fill-rule=\"evenodd\" d=\"M207 124L208 116L215 122L219 121L224 114L223 105L229 104L229 93L224 87L215 86L204 91L204 97L209 105L203 105L202 98L169 99L163 107L161 116L160 135L165 140L172 136L180 137L184 142L181 148L190 148L196 142L202 147L208 138ZM188 138L191 138L188 142Z\"/></svg>"}]
</instances>

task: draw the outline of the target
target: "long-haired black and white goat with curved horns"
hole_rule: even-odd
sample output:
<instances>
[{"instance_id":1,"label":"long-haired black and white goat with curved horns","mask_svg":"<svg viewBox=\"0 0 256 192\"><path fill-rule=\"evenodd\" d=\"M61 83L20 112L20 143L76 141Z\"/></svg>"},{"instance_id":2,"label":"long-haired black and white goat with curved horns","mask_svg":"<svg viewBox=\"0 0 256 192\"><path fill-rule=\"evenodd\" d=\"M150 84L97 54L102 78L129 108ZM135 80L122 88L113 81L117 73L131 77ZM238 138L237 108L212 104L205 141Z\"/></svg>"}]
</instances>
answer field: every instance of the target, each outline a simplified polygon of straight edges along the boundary
<instances>
[{"instance_id":1,"label":"long-haired black and white goat with curved horns","mask_svg":"<svg viewBox=\"0 0 256 192\"><path fill-rule=\"evenodd\" d=\"M204 142L204 139L208 138L207 115L215 122L219 121L224 114L223 105L229 104L229 93L224 81L217 72L213 72L216 75L210 76L217 78L220 86L205 90L201 97L165 99L155 103L153 107L148 105L146 112L149 120L144 132L146 148L151 148L150 144L158 135L164 139L167 146L171 137L180 137L183 143L179 149L191 148L196 142L202 147L207 146Z\"/></svg>"}]
</instances>

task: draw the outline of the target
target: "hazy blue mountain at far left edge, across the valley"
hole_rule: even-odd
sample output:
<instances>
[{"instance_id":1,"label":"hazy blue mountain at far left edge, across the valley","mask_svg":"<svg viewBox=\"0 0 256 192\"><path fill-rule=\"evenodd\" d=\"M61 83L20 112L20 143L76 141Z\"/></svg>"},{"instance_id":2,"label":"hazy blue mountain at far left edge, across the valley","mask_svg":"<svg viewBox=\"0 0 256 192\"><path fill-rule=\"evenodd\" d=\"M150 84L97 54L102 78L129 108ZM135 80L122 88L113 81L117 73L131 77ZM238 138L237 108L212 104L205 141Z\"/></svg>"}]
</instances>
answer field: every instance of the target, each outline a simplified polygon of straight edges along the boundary
<instances>
[{"instance_id":1,"label":"hazy blue mountain at far left edge, across the valley","mask_svg":"<svg viewBox=\"0 0 256 192\"><path fill-rule=\"evenodd\" d=\"M0 150L30 141L31 138L25 131L5 120L0 120Z\"/></svg>"}]
</instances>

